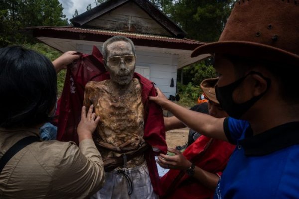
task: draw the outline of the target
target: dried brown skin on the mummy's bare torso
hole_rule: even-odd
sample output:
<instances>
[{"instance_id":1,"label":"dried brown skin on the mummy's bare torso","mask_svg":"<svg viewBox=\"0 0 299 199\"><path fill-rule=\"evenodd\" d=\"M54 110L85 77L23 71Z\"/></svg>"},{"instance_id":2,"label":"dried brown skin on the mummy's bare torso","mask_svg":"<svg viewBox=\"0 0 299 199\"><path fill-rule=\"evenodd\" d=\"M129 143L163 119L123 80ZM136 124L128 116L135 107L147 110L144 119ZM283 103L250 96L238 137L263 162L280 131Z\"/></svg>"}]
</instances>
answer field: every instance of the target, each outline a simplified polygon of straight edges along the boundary
<instances>
[{"instance_id":1,"label":"dried brown skin on the mummy's bare torso","mask_svg":"<svg viewBox=\"0 0 299 199\"><path fill-rule=\"evenodd\" d=\"M132 86L125 92L114 90L110 86L111 80L86 84L84 105L88 107L93 104L96 115L101 117L100 124L94 132L96 145L99 141L117 147L126 142L129 142L130 146L140 143L144 129L144 108L141 85L136 78L132 81ZM103 148L100 148L100 152L103 158L121 156L120 153ZM128 162L127 167L138 166L144 160L143 156L135 157Z\"/></svg>"}]
</instances>

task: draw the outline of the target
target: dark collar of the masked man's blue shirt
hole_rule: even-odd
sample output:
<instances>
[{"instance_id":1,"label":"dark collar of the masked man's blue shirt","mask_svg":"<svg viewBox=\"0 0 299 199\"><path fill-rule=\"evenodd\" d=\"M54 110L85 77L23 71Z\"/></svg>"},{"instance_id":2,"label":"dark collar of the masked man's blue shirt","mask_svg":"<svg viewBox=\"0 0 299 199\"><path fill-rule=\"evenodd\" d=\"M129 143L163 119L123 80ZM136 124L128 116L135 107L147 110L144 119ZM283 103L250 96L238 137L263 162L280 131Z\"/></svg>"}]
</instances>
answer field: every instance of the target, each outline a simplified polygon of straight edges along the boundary
<instances>
[{"instance_id":1,"label":"dark collar of the masked man's blue shirt","mask_svg":"<svg viewBox=\"0 0 299 199\"><path fill-rule=\"evenodd\" d=\"M262 156L299 144L299 122L290 122L253 136L249 127L239 140L246 156Z\"/></svg>"}]
</instances>

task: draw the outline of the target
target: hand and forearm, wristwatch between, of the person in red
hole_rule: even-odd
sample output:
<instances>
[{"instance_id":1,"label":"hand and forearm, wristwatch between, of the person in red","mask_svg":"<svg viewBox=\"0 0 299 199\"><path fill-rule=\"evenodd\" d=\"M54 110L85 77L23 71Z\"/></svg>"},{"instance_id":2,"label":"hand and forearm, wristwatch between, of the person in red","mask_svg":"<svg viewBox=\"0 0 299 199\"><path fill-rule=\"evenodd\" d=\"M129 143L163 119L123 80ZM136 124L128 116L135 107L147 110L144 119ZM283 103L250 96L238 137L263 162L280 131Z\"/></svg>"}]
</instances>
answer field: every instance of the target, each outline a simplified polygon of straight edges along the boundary
<instances>
[{"instance_id":1,"label":"hand and forearm, wristwatch between, of the person in red","mask_svg":"<svg viewBox=\"0 0 299 199\"><path fill-rule=\"evenodd\" d=\"M160 154L158 156L158 164L163 168L187 170L191 167L191 162L186 159L183 154L176 149L168 149L169 152L174 153L174 156ZM208 172L195 166L195 172L192 176L197 179L202 185L214 191L219 181L219 176L215 173Z\"/></svg>"}]
</instances>

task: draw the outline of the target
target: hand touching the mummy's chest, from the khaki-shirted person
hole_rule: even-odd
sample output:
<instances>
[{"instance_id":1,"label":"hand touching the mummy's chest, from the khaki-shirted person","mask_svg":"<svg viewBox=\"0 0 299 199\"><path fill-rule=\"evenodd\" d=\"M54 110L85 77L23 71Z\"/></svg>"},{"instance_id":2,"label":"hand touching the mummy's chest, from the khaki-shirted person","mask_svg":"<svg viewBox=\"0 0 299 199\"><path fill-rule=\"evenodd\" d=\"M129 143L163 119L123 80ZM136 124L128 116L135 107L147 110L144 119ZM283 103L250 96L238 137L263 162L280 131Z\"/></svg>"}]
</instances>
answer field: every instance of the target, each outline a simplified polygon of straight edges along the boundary
<instances>
[{"instance_id":1,"label":"hand touching the mummy's chest, from the khaki-shirted person","mask_svg":"<svg viewBox=\"0 0 299 199\"><path fill-rule=\"evenodd\" d=\"M86 115L86 107L82 107L81 120L77 127L79 142L84 139L92 139L92 133L96 130L100 122L100 117L96 116L96 113L93 113L92 110L93 105L89 107Z\"/></svg>"}]
</instances>

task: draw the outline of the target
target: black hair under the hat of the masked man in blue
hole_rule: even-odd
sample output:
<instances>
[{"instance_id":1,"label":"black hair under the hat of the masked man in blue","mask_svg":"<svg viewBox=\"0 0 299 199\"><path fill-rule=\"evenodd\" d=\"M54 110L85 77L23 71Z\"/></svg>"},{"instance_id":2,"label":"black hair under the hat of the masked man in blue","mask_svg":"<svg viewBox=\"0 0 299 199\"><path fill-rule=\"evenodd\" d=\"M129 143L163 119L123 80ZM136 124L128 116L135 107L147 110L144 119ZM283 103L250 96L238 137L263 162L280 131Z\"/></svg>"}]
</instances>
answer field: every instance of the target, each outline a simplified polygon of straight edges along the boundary
<instances>
[{"instance_id":1,"label":"black hair under the hat of the masked man in blue","mask_svg":"<svg viewBox=\"0 0 299 199\"><path fill-rule=\"evenodd\" d=\"M284 62L271 62L260 59L250 59L232 55L224 55L234 65L236 78L243 77L248 71L257 65L267 69L278 81L280 85L279 94L292 104L298 104L298 74L299 67L286 64Z\"/></svg>"}]
</instances>

